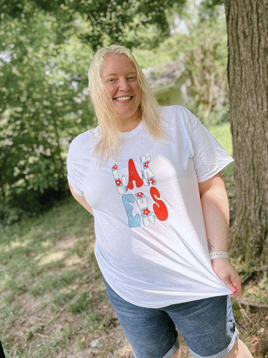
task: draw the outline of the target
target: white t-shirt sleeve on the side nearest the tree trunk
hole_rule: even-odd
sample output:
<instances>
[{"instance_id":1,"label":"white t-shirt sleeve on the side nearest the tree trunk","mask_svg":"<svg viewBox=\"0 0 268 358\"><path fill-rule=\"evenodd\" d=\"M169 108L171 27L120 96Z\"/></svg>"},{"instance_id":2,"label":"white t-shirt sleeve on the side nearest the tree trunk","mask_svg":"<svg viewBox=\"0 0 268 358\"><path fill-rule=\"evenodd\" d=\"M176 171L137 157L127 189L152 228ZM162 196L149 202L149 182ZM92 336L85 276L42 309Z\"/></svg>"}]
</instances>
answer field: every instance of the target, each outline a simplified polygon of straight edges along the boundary
<instances>
[{"instance_id":1,"label":"white t-shirt sleeve on the side nearest the tree trunk","mask_svg":"<svg viewBox=\"0 0 268 358\"><path fill-rule=\"evenodd\" d=\"M229 163L233 162L233 159L201 121L194 115L193 117L195 123L190 129L194 149L193 161L198 182L202 182L219 173Z\"/></svg>"}]
</instances>

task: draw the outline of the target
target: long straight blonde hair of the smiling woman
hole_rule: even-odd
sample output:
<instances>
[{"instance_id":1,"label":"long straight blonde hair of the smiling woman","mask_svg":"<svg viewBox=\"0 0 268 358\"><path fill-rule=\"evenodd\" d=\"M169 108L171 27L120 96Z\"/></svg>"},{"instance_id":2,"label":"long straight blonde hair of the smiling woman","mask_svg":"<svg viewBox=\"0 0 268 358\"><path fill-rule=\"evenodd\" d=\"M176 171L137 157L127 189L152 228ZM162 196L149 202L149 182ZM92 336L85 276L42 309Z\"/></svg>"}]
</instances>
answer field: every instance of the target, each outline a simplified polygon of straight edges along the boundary
<instances>
[{"instance_id":1,"label":"long straight blonde hair of the smiling woman","mask_svg":"<svg viewBox=\"0 0 268 358\"><path fill-rule=\"evenodd\" d=\"M106 59L112 54L127 56L136 68L138 83L141 88L140 115L148 128L149 133L156 139L165 138L164 129L161 125L159 106L155 100L150 86L143 71L132 55L125 47L112 45L98 50L88 69L88 90L90 91L91 101L95 108L98 118L101 139L95 148L95 155L100 159L115 157L120 145L120 120L116 115L113 99L106 90L101 78L102 70Z\"/></svg>"}]
</instances>

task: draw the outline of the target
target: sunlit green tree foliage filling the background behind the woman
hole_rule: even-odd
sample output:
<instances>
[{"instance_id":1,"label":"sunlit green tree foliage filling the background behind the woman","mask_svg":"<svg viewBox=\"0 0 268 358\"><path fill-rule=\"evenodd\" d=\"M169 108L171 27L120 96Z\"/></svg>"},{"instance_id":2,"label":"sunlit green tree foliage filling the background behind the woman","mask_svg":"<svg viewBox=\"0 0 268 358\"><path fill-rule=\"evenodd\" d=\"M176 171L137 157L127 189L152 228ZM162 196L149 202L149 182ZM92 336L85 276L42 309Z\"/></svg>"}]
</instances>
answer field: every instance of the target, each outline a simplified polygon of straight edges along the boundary
<instances>
[{"instance_id":1,"label":"sunlit green tree foliage filling the background behind the woman","mask_svg":"<svg viewBox=\"0 0 268 358\"><path fill-rule=\"evenodd\" d=\"M95 50L133 49L145 67L183 57L201 91L190 109L203 116L211 76L225 86L223 8L215 16L193 1L6 0L0 11L0 220L11 224L67 195L70 141L97 125L87 94ZM203 10L202 10L203 9ZM207 10L206 10L207 11ZM184 19L185 31L177 30ZM214 27L215 36L209 36ZM203 60L193 61L194 51ZM202 73L204 76L202 78ZM191 76L190 76L191 77ZM226 89L224 88L224 91ZM214 99L214 114L217 113ZM223 113L226 106L221 106ZM213 117L213 116L212 116ZM215 116L214 116L215 117ZM1 225L1 224L0 224Z\"/></svg>"}]
</instances>

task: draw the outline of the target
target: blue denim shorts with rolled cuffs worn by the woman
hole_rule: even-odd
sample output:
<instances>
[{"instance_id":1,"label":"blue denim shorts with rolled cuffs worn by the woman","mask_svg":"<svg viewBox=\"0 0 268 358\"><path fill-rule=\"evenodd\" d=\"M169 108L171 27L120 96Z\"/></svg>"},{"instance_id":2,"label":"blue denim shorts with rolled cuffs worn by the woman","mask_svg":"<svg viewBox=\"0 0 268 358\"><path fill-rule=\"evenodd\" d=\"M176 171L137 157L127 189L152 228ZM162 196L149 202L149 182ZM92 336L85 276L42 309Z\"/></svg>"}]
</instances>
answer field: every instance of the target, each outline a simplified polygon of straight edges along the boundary
<instances>
[{"instance_id":1,"label":"blue denim shorts with rolled cuffs worn by the woman","mask_svg":"<svg viewBox=\"0 0 268 358\"><path fill-rule=\"evenodd\" d=\"M123 300L104 283L136 358L172 357L179 346L176 329L197 358L223 358L238 339L230 296L144 308Z\"/></svg>"}]
</instances>

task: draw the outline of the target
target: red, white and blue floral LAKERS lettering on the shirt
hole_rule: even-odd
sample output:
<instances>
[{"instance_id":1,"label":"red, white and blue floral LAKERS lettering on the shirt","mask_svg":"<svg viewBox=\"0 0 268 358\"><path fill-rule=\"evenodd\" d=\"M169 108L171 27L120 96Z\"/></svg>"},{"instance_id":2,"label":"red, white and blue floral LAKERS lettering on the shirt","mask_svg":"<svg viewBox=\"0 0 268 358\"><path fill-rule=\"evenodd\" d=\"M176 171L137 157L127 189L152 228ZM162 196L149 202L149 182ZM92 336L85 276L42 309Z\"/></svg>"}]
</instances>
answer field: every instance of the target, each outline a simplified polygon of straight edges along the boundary
<instances>
[{"instance_id":1,"label":"red, white and blue floral LAKERS lettering on the shirt","mask_svg":"<svg viewBox=\"0 0 268 358\"><path fill-rule=\"evenodd\" d=\"M138 174L137 168L135 167L133 159L129 159L128 181L124 175L120 179L118 173L118 166L116 164L112 167L117 191L118 194L122 195L122 201L128 217L128 224L131 228L141 226L141 219L142 224L144 226L149 226L150 224L155 223L156 218L160 221L165 221L168 217L166 205L162 200L160 200L160 193L155 187L156 178L149 167L150 160L151 157L149 156L141 156L141 178ZM142 186L151 186L149 192L151 198L154 200L152 209L148 207L146 196L142 191L137 192L135 195L125 194L129 189L132 190L134 188L133 182L135 182L135 186L137 188L140 188ZM140 209L140 215L136 214L135 216L133 216L132 210L134 209L134 207L133 205L131 205L131 203L138 204L138 207Z\"/></svg>"}]
</instances>

